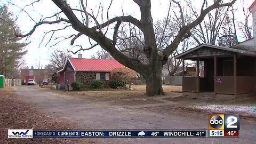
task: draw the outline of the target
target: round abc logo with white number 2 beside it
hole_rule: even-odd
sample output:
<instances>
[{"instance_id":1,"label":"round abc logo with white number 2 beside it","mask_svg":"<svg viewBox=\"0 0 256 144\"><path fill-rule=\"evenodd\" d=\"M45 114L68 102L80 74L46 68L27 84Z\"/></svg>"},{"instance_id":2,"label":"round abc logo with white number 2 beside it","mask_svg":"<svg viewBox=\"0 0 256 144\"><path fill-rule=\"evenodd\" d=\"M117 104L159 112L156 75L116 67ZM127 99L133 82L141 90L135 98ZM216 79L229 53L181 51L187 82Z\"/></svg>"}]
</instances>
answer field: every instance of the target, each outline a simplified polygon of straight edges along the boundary
<instances>
[{"instance_id":1,"label":"round abc logo with white number 2 beside it","mask_svg":"<svg viewBox=\"0 0 256 144\"><path fill-rule=\"evenodd\" d=\"M240 117L238 114L210 114L209 130L239 130Z\"/></svg>"}]
</instances>

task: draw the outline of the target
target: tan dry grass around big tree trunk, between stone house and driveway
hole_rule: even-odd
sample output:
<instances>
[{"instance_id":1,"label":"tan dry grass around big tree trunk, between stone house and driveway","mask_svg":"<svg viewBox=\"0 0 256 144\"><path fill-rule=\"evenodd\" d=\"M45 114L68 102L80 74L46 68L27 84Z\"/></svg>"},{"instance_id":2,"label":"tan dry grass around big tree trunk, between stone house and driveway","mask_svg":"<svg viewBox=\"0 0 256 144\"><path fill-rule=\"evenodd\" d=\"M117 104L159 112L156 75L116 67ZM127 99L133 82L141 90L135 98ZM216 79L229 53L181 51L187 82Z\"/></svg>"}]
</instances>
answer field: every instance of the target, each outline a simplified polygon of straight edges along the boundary
<instances>
[{"instance_id":1,"label":"tan dry grass around big tree trunk, between stone house and driveway","mask_svg":"<svg viewBox=\"0 0 256 144\"><path fill-rule=\"evenodd\" d=\"M156 97L147 97L146 93L146 85L132 85L132 90L123 90L123 89L98 89L98 90L90 90L90 91L57 91L50 89L43 89L42 87L35 87L37 90L43 91L52 91L59 94L68 94L73 97L86 97L90 98L95 102L110 102L118 105L145 105L151 103L159 103L161 101L156 100ZM173 85L163 85L163 89L167 95L177 95L175 92L181 92L181 86L173 86ZM157 96L158 97L158 96Z\"/></svg>"}]
</instances>

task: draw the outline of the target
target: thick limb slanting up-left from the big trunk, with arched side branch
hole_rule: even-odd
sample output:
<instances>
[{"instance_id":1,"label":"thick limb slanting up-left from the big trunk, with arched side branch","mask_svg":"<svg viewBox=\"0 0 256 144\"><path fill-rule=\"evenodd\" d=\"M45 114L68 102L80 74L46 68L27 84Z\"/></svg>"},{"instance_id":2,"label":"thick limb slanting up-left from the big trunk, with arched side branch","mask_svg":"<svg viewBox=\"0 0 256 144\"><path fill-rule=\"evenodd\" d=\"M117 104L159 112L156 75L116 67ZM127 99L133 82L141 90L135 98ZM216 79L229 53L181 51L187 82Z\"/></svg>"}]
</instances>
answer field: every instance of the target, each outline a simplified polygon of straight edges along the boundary
<instances>
[{"instance_id":1,"label":"thick limb slanting up-left from the big trunk, with arched side branch","mask_svg":"<svg viewBox=\"0 0 256 144\"><path fill-rule=\"evenodd\" d=\"M115 58L117 61L122 63L124 66L130 67L131 69L133 69L135 71L142 71L142 70L148 69L146 65L143 65L143 63L141 63L137 60L131 59L131 58L127 57L126 55L124 55L123 53L119 52L116 49L116 47L114 46L114 44L112 43L113 41L111 39L107 38L105 35L103 35L101 31L97 31L93 28L88 28L88 27L84 26L83 23L78 20L78 18L74 14L73 10L66 2L63 2L62 0L52 0L52 1L61 9L61 11L63 11L63 13L69 19L70 23L72 24L72 26L75 30L79 31L79 33L83 33L84 35L92 38L104 50L109 52L113 56L113 58ZM123 17L123 18L124 18L124 20L132 21L133 23L140 26L140 22L131 16ZM114 21L118 21L118 20L120 20L120 17L114 18L114 20L111 19L109 21L111 21L113 23ZM121 17L121 20L123 20L122 17ZM111 22L109 22L109 23L111 23ZM103 25L103 26L105 26L105 25ZM97 27L96 27L96 29L97 29Z\"/></svg>"}]
</instances>

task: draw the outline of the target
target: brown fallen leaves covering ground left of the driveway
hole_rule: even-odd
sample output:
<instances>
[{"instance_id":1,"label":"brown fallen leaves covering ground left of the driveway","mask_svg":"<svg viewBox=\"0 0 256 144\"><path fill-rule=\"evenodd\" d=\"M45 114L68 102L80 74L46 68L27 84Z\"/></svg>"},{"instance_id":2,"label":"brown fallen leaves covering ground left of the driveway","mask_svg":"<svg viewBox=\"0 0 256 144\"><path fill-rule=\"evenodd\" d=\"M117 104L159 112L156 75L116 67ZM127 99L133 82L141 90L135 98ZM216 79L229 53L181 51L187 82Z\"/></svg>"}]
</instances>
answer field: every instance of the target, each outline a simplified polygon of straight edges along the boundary
<instances>
[{"instance_id":1,"label":"brown fallen leaves covering ground left of the driveway","mask_svg":"<svg viewBox=\"0 0 256 144\"><path fill-rule=\"evenodd\" d=\"M0 89L0 111L0 143L95 143L83 138L8 139L8 129L69 130L76 127L64 119L54 118L29 106L12 88Z\"/></svg>"}]
</instances>

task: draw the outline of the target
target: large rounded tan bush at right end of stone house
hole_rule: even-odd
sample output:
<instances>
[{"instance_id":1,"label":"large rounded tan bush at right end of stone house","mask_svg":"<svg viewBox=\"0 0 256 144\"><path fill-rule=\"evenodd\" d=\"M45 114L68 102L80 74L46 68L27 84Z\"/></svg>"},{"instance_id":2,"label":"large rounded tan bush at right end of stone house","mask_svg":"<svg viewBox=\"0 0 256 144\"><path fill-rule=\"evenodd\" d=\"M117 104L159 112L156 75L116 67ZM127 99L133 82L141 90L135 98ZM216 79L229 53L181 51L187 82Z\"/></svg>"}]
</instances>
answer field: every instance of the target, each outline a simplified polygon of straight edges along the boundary
<instances>
[{"instance_id":1,"label":"large rounded tan bush at right end of stone house","mask_svg":"<svg viewBox=\"0 0 256 144\"><path fill-rule=\"evenodd\" d=\"M125 84L129 84L129 89L131 89L132 80L135 77L137 77L137 73L130 68L127 68L127 67L115 68L111 70L111 73L110 73L110 79L111 79L110 87L113 88L115 85L119 87L122 85L122 82L124 82L124 86Z\"/></svg>"}]
</instances>

